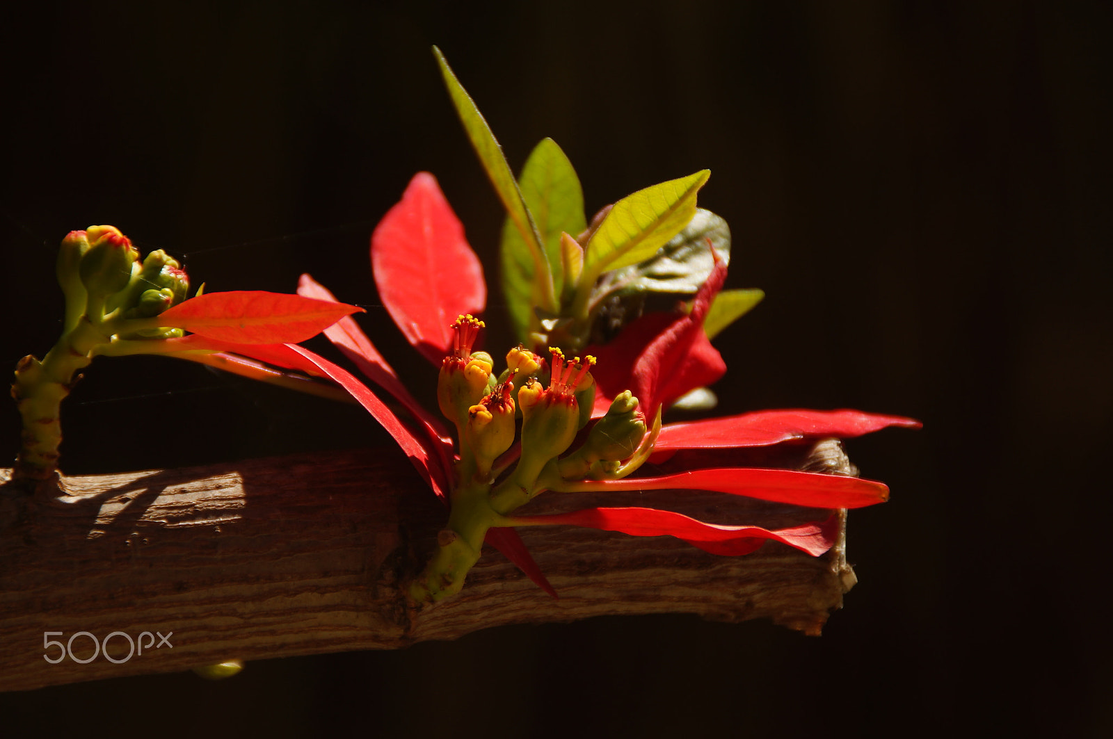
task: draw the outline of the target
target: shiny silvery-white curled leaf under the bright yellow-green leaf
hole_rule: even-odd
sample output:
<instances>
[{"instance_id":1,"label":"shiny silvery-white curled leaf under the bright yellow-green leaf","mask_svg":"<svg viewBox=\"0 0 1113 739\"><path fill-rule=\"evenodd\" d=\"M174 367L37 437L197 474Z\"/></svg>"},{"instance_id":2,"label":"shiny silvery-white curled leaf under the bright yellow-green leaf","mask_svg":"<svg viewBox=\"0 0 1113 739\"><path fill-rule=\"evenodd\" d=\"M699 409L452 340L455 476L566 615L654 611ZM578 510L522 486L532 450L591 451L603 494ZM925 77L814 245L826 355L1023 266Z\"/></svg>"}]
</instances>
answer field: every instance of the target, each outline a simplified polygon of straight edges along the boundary
<instances>
[{"instance_id":1,"label":"shiny silvery-white curled leaf under the bright yellow-green leaf","mask_svg":"<svg viewBox=\"0 0 1113 739\"><path fill-rule=\"evenodd\" d=\"M730 262L730 228L727 221L710 210L696 209L696 215L679 234L658 249L657 254L636 265L603 275L595 285L591 304L595 305L611 293L695 293L702 285L715 257Z\"/></svg>"}]
</instances>

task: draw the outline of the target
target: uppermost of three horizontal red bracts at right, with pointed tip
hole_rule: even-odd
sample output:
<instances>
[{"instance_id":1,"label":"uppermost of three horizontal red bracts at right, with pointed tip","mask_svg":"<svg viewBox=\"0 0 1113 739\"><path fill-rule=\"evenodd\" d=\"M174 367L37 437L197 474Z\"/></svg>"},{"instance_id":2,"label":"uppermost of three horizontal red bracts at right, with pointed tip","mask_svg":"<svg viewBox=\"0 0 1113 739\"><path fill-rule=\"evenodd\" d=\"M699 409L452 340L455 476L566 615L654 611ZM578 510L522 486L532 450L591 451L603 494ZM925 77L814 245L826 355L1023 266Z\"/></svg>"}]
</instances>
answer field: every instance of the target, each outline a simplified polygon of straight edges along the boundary
<instances>
[{"instance_id":1,"label":"uppermost of three horizontal red bracts at right, with pointed tip","mask_svg":"<svg viewBox=\"0 0 1113 739\"><path fill-rule=\"evenodd\" d=\"M661 428L654 451L768 446L794 439L853 439L889 426L919 428L915 418L861 411L758 411L733 416L670 423Z\"/></svg>"}]
</instances>

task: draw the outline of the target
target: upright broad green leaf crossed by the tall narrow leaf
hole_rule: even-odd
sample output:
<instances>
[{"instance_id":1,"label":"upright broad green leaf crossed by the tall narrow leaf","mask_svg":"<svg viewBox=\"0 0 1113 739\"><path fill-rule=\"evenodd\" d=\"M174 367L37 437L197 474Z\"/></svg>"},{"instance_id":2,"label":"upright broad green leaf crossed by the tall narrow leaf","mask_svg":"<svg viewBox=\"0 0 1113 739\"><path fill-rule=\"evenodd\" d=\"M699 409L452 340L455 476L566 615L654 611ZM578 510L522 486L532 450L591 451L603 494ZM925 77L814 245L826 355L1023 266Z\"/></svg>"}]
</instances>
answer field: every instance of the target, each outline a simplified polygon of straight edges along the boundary
<instances>
[{"instance_id":1,"label":"upright broad green leaf crossed by the tall narrow leaf","mask_svg":"<svg viewBox=\"0 0 1113 739\"><path fill-rule=\"evenodd\" d=\"M561 294L561 231L579 234L587 228L583 216L583 188L564 152L552 139L543 139L525 161L518 186L533 223L541 235L552 275L554 298ZM512 218L502 227L502 287L515 333L525 341L536 329L534 306L551 313L560 309L558 300L545 305L543 290L535 285L536 270L529 245Z\"/></svg>"}]
</instances>

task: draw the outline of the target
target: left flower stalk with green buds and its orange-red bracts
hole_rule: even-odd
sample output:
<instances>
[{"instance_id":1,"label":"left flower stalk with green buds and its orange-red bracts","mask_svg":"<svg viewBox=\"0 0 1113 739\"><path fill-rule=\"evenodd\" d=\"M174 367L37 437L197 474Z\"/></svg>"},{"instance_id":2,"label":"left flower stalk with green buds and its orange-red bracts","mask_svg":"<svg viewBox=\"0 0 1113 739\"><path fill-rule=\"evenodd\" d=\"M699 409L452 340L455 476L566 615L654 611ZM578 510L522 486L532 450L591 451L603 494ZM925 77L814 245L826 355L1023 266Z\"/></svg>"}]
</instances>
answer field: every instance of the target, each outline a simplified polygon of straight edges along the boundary
<instances>
[{"instance_id":1,"label":"left flower stalk with green buds and its orange-red bracts","mask_svg":"<svg viewBox=\"0 0 1113 739\"><path fill-rule=\"evenodd\" d=\"M98 355L167 354L306 392L324 387L336 396L331 387L237 361L225 349L258 345L246 351L314 374L316 367L285 344L305 341L357 311L353 306L252 292L195 296L183 305L189 277L181 265L161 249L139 262L131 240L114 226L69 233L58 253L57 275L66 296L62 335L41 362L33 356L19 362L11 387L23 422L16 479L53 475L61 443L60 404L78 373ZM186 331L196 335L185 338Z\"/></svg>"}]
</instances>

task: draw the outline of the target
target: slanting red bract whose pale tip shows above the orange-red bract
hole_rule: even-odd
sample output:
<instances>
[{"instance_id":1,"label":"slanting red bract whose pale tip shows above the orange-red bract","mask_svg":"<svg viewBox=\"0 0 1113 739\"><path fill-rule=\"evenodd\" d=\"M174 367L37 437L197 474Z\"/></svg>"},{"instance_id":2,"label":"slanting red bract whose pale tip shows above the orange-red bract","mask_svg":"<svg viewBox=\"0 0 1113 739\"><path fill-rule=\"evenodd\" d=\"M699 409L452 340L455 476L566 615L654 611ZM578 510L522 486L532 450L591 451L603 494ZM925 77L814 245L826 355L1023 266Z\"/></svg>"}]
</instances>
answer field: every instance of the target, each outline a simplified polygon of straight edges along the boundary
<instances>
[{"instance_id":1,"label":"slanting red bract whose pale tip shows above the orange-red bract","mask_svg":"<svg viewBox=\"0 0 1113 739\"><path fill-rule=\"evenodd\" d=\"M297 294L318 300L336 302L336 298L328 288L314 280L309 275L302 275L297 284ZM426 411L410 394L410 391L398 380L394 367L378 353L378 349L371 343L367 335L363 333L363 329L359 328L355 319L352 316L344 316L325 329L325 336L347 358L354 362L363 374L393 395L422 424L426 435L430 437L432 449L436 450L437 461L447 476L452 471L452 439L445 433L441 420Z\"/></svg>"}]
</instances>

